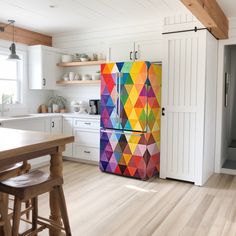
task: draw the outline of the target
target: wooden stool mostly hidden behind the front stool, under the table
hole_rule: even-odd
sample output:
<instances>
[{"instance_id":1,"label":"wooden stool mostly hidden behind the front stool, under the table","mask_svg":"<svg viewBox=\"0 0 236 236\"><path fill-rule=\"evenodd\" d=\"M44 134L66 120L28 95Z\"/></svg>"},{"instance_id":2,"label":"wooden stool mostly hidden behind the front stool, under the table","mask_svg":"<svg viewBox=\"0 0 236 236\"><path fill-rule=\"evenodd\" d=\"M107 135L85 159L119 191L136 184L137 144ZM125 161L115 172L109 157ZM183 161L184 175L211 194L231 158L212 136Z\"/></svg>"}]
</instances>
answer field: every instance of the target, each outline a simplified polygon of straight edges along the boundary
<instances>
[{"instance_id":1,"label":"wooden stool mostly hidden behind the front stool, under the table","mask_svg":"<svg viewBox=\"0 0 236 236\"><path fill-rule=\"evenodd\" d=\"M5 179L15 177L24 173L29 172L31 165L27 161L19 162L16 164L11 164L7 166L0 167L0 181ZM26 201L26 208L30 207L30 202ZM9 231L10 221L8 217L8 194L1 194L0 196L0 235L2 231ZM27 219L29 219L29 214L26 214ZM6 234L6 233L5 233Z\"/></svg>"}]
</instances>

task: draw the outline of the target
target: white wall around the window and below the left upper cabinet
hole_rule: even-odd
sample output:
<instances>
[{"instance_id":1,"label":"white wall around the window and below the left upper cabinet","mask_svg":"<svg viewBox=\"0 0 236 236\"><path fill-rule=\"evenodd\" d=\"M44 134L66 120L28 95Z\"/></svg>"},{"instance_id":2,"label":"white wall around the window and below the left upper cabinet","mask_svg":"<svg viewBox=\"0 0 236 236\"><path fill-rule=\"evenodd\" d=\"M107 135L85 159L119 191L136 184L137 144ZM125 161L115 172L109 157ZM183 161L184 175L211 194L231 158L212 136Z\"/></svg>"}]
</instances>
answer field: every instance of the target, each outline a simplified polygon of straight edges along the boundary
<instances>
[{"instance_id":1,"label":"white wall around the window and below the left upper cabinet","mask_svg":"<svg viewBox=\"0 0 236 236\"><path fill-rule=\"evenodd\" d=\"M0 40L0 49L9 51L9 45L11 42ZM16 51L23 56L23 78L21 83L21 104L10 104L6 105L9 108L5 115L16 115L16 114L26 114L26 113L36 113L37 108L40 104L47 101L47 97L52 94L52 91L42 91L42 90L30 90L28 86L28 62L27 62L27 46L23 44L16 44Z\"/></svg>"}]
</instances>

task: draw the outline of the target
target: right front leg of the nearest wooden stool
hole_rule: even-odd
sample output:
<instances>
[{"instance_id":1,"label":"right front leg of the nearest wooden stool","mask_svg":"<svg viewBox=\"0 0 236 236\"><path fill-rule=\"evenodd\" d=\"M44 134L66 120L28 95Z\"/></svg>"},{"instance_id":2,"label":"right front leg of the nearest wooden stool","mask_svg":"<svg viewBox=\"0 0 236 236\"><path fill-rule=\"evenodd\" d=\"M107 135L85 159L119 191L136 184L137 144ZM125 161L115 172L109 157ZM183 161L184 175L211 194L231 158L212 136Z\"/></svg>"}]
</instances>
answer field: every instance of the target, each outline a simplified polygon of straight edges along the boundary
<instances>
[{"instance_id":1,"label":"right front leg of the nearest wooden stool","mask_svg":"<svg viewBox=\"0 0 236 236\"><path fill-rule=\"evenodd\" d=\"M60 210L61 210L61 217L62 217L63 224L66 231L66 236L71 236L72 234L70 230L70 223L69 223L68 213L66 209L66 201L65 201L65 196L64 196L62 186L61 185L57 186L55 187L55 189L58 191L58 201L59 201Z\"/></svg>"}]
</instances>

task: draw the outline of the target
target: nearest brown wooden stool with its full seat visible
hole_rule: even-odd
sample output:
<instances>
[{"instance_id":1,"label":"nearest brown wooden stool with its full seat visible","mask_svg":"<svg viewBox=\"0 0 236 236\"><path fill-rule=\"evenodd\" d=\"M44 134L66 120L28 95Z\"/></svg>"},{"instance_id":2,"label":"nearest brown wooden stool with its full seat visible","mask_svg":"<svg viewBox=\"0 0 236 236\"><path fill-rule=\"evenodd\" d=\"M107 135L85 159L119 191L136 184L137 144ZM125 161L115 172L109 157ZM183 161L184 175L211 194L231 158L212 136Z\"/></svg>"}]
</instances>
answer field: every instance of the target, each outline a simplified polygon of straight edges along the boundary
<instances>
[{"instance_id":1,"label":"nearest brown wooden stool with its full seat visible","mask_svg":"<svg viewBox=\"0 0 236 236\"><path fill-rule=\"evenodd\" d=\"M23 235L36 235L45 228L65 230L67 236L71 235L62 183L61 177L51 177L39 170L0 183L0 192L15 196L12 236L19 235L21 203L29 199L32 201L32 228L24 232ZM52 190L57 192L64 228L52 220L38 216L38 196ZM38 225L40 227L37 227Z\"/></svg>"}]
</instances>

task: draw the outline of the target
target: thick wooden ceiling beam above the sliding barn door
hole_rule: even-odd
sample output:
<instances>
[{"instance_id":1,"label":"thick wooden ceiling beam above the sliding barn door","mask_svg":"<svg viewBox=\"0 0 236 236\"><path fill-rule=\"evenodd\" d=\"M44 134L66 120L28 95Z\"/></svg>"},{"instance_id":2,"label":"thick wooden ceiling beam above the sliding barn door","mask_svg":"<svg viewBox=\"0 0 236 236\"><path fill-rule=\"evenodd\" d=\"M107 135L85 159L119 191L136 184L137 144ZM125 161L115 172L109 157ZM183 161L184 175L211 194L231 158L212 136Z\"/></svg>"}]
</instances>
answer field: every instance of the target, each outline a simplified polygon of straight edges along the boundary
<instances>
[{"instance_id":1,"label":"thick wooden ceiling beam above the sliding barn door","mask_svg":"<svg viewBox=\"0 0 236 236\"><path fill-rule=\"evenodd\" d=\"M218 39L227 39L229 21L216 0L181 0L194 16Z\"/></svg>"}]
</instances>

